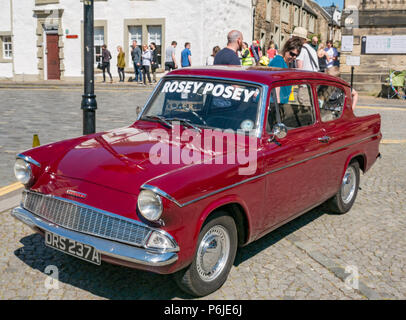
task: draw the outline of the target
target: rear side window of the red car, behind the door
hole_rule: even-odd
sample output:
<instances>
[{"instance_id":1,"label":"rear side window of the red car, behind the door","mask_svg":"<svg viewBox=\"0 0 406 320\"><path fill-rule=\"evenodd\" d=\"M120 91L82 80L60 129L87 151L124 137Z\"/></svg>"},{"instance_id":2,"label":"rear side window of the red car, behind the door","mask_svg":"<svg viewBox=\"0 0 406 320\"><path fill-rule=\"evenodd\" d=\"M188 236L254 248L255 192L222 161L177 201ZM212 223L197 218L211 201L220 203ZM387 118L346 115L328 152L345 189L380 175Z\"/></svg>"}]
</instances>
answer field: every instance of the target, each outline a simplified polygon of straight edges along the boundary
<instances>
[{"instance_id":1,"label":"rear side window of the red car, behind the door","mask_svg":"<svg viewBox=\"0 0 406 320\"><path fill-rule=\"evenodd\" d=\"M345 93L342 89L333 86L318 86L317 99L321 121L333 121L343 114Z\"/></svg>"}]
</instances>

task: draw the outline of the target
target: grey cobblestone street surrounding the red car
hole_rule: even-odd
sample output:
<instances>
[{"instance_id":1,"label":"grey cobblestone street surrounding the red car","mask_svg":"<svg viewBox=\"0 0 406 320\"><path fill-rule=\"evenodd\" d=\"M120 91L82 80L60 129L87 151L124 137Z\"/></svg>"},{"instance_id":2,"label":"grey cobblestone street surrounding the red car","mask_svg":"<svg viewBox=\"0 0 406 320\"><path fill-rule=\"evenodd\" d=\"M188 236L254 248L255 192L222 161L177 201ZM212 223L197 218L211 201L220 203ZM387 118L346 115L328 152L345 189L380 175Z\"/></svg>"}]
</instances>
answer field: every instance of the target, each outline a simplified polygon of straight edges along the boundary
<instances>
[{"instance_id":1,"label":"grey cobblestone street surrounding the red car","mask_svg":"<svg viewBox=\"0 0 406 320\"><path fill-rule=\"evenodd\" d=\"M97 91L97 131L131 124L149 93ZM0 187L15 182L15 155L31 148L33 134L41 144L81 135L81 94L0 90ZM352 210L318 207L240 248L225 285L203 299L406 299L406 106L365 101L356 114L381 114L383 158L361 176ZM0 299L190 298L170 276L52 250L9 211L0 213ZM49 265L58 268L58 289L44 285Z\"/></svg>"}]
</instances>

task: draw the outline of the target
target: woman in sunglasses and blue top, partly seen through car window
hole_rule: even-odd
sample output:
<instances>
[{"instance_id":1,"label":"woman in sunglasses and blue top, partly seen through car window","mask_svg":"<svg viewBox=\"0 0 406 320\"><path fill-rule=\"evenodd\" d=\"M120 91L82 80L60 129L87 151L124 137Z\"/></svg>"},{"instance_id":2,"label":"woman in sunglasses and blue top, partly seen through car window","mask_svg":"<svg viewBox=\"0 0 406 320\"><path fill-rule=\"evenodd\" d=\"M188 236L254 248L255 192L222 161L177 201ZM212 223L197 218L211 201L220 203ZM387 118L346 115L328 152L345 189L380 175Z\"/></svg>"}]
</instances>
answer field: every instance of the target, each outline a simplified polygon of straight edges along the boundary
<instances>
[{"instance_id":1,"label":"woman in sunglasses and blue top, partly seen through car window","mask_svg":"<svg viewBox=\"0 0 406 320\"><path fill-rule=\"evenodd\" d=\"M280 54L276 55L268 64L269 67L287 69L288 65L295 61L302 50L303 40L293 37L286 41ZM276 88L278 103L285 104L289 102L289 96L292 91L291 86ZM272 101L272 98L271 98Z\"/></svg>"}]
</instances>

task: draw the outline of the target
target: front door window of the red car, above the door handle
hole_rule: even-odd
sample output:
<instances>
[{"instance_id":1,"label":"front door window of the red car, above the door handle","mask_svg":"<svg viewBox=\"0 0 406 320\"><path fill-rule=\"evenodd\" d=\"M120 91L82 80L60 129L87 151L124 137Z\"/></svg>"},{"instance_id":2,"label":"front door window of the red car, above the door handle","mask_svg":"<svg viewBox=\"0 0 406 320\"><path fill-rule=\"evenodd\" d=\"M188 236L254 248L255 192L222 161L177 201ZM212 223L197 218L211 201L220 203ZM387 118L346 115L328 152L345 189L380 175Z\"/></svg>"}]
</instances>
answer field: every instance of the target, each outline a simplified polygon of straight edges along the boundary
<instances>
[{"instance_id":1,"label":"front door window of the red car, above the door handle","mask_svg":"<svg viewBox=\"0 0 406 320\"><path fill-rule=\"evenodd\" d=\"M278 123L278 103L280 122L288 129L305 127L315 122L312 91L309 85L282 86L272 89L267 131L271 132L272 127Z\"/></svg>"}]
</instances>

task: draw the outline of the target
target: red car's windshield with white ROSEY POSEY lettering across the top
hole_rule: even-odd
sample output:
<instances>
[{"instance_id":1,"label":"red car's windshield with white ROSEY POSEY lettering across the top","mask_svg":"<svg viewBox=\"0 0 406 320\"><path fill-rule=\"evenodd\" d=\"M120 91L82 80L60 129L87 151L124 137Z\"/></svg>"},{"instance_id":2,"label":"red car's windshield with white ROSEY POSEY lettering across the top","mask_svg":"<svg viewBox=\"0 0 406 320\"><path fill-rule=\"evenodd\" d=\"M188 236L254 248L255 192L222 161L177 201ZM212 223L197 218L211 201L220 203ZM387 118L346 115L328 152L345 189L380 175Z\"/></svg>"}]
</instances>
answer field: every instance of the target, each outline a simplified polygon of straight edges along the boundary
<instances>
[{"instance_id":1,"label":"red car's windshield with white ROSEY POSEY lettering across the top","mask_svg":"<svg viewBox=\"0 0 406 320\"><path fill-rule=\"evenodd\" d=\"M258 126L260 86L212 79L167 79L161 82L141 119L173 121L202 128L254 132Z\"/></svg>"}]
</instances>

